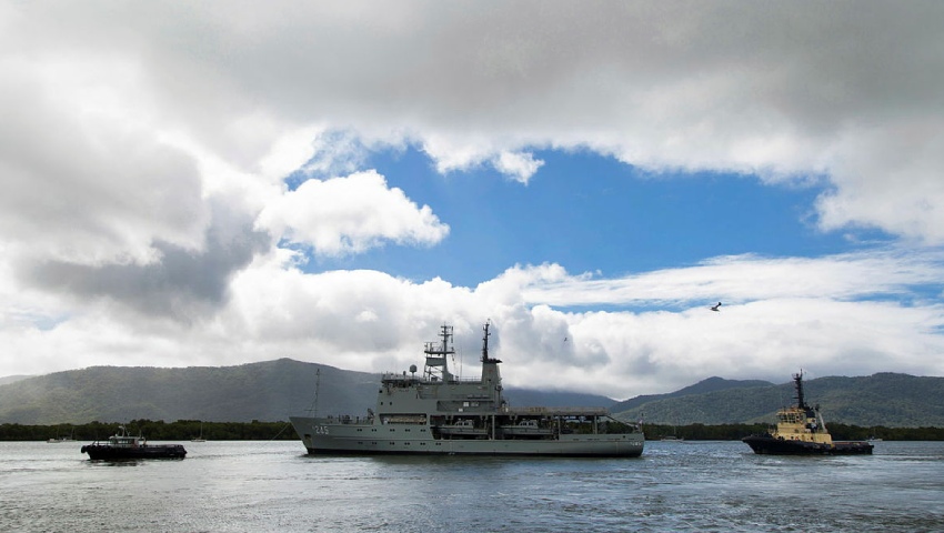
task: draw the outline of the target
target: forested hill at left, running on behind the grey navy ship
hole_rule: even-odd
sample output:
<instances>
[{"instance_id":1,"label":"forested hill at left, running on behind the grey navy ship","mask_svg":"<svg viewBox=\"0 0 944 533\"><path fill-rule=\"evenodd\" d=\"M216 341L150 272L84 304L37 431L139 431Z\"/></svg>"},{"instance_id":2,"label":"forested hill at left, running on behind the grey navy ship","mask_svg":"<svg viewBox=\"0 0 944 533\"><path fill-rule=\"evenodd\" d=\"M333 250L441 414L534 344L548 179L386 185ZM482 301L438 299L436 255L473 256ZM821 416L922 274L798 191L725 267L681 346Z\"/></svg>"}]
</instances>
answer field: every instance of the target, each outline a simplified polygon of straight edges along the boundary
<instances>
[{"instance_id":1,"label":"forested hill at left, running on behind the grey navy ship","mask_svg":"<svg viewBox=\"0 0 944 533\"><path fill-rule=\"evenodd\" d=\"M318 374L320 370L320 376ZM291 359L185 369L93 366L0 385L0 423L64 424L128 420L250 422L321 414L366 414L379 373ZM614 400L569 392L505 390L513 405L609 406Z\"/></svg>"}]
</instances>

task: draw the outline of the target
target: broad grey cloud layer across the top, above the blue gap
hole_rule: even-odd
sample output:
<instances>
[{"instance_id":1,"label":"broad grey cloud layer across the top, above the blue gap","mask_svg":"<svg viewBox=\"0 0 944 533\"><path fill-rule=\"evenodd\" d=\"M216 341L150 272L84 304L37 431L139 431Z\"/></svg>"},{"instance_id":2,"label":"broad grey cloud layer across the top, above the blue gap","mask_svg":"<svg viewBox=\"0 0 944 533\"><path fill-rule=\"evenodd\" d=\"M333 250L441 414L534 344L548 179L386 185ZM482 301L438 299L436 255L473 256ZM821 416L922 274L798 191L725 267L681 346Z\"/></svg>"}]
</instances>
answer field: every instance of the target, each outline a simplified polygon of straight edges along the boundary
<instances>
[{"instance_id":1,"label":"broad grey cloud layer across the top, above the blue gap","mask_svg":"<svg viewBox=\"0 0 944 533\"><path fill-rule=\"evenodd\" d=\"M331 124L418 142L443 172L492 164L522 182L540 167L530 147L825 177L824 229L944 241L933 2L218 8L127 6L100 24L84 7L9 7L4 67L34 72L6 101L160 122L243 168L280 130Z\"/></svg>"}]
</instances>

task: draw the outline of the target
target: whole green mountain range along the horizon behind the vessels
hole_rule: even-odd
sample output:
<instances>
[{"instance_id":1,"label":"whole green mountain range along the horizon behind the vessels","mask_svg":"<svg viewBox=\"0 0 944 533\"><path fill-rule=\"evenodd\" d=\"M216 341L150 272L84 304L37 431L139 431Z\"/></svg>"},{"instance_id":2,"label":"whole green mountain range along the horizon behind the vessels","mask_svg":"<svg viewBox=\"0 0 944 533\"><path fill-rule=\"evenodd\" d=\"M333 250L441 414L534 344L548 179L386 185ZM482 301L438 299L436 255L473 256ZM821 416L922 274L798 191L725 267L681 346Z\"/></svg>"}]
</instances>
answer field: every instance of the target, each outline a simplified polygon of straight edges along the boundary
<instances>
[{"instance_id":1,"label":"whole green mountain range along the horizon behind the vessels","mask_svg":"<svg viewBox=\"0 0 944 533\"><path fill-rule=\"evenodd\" d=\"M0 423L129 420L249 422L290 415L361 414L380 376L280 359L238 366L92 366L0 382ZM804 382L826 422L887 428L944 426L944 378L878 373ZM667 394L606 396L506 388L512 405L605 406L623 420L685 425L771 422L794 402L793 383L709 378Z\"/></svg>"}]
</instances>

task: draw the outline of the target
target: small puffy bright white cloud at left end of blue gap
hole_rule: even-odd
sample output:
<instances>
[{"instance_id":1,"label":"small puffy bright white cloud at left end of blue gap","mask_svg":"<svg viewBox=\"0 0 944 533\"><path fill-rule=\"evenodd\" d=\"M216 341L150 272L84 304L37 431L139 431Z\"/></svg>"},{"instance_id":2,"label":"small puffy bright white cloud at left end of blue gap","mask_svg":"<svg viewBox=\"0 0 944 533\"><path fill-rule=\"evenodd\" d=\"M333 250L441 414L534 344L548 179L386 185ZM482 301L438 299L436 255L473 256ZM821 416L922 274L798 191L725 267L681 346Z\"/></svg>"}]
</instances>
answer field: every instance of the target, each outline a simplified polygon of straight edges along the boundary
<instances>
[{"instance_id":1,"label":"small puffy bright white cloud at left end of blue gap","mask_svg":"<svg viewBox=\"0 0 944 533\"><path fill-rule=\"evenodd\" d=\"M449 233L429 205L388 188L375 171L305 181L270 203L259 223L323 255L360 253L384 241L431 245Z\"/></svg>"}]
</instances>

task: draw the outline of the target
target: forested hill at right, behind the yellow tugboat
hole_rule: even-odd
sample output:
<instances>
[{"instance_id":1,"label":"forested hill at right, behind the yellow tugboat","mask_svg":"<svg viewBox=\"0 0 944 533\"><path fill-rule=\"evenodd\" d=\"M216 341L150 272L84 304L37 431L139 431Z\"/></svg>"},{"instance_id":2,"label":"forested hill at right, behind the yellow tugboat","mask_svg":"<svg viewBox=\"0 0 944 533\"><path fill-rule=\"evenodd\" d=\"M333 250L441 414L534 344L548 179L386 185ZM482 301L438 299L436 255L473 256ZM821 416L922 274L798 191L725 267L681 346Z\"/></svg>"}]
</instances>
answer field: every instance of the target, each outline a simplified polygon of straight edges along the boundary
<instances>
[{"instance_id":1,"label":"forested hill at right, behind the yellow tugboat","mask_svg":"<svg viewBox=\"0 0 944 533\"><path fill-rule=\"evenodd\" d=\"M807 403L820 404L827 424L944 428L944 378L895 373L819 378L804 381L804 393ZM772 423L780 408L795 403L794 396L789 382L670 395L613 411L625 420L661 424Z\"/></svg>"}]
</instances>

